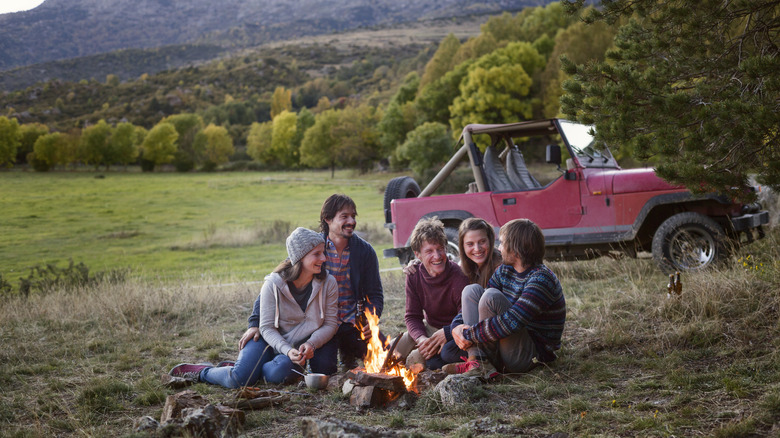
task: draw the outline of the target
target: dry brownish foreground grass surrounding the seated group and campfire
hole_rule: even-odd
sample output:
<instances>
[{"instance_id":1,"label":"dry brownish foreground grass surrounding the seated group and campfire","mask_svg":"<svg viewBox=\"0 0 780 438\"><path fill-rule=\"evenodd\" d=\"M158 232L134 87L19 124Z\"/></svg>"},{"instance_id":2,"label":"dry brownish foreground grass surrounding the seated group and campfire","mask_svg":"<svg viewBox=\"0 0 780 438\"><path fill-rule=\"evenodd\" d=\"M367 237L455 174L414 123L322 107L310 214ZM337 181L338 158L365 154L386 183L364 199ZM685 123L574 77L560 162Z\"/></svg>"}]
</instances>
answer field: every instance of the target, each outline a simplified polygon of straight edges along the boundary
<instances>
[{"instance_id":1,"label":"dry brownish foreground grass surrounding the seated group and campfire","mask_svg":"<svg viewBox=\"0 0 780 438\"><path fill-rule=\"evenodd\" d=\"M474 436L468 424L481 418L529 436L765 435L780 421L778 241L772 230L728 268L683 274L682 294L671 298L649 258L551 263L568 316L550 366L487 385L461 406L425 394L402 414L356 413L338 391L301 396L248 413L246 432L295 435L307 415L437 437ZM404 277L389 271L382 280L382 329L393 336L404 327ZM133 420L159 417L174 392L159 375L179 362L235 358L259 288L128 276L5 297L0 435L122 436ZM215 402L231 395L194 389Z\"/></svg>"}]
</instances>

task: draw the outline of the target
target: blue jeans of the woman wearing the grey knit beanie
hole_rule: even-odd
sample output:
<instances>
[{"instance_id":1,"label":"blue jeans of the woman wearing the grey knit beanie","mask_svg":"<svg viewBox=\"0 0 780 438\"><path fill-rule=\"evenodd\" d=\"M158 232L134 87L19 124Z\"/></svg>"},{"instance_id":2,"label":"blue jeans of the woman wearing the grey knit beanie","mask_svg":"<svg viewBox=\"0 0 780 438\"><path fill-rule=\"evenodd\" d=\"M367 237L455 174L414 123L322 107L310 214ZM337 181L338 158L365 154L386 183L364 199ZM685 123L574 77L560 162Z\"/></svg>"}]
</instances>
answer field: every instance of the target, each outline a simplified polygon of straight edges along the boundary
<instances>
[{"instance_id":1,"label":"blue jeans of the woman wearing the grey knit beanie","mask_svg":"<svg viewBox=\"0 0 780 438\"><path fill-rule=\"evenodd\" d=\"M314 357L309 364L312 372L333 374L336 369L335 361L332 364L333 372L326 371L330 353L326 348L314 351ZM238 359L234 366L206 368L200 372L200 380L213 385L221 385L225 388L241 388L252 386L259 381L266 383L292 383L298 379L298 374L293 372L303 369L294 364L287 355L276 352L265 340L250 340L238 353Z\"/></svg>"}]
</instances>

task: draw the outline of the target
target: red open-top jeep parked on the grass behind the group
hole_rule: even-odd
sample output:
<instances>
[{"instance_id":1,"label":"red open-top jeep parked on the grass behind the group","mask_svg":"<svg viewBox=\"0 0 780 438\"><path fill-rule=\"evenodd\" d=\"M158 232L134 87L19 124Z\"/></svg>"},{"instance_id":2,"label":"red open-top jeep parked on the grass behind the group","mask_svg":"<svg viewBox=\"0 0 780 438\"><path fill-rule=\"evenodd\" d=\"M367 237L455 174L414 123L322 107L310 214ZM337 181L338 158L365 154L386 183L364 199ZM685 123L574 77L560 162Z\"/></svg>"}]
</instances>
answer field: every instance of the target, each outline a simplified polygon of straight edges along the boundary
<instances>
[{"instance_id":1,"label":"red open-top jeep parked on the grass behind the group","mask_svg":"<svg viewBox=\"0 0 780 438\"><path fill-rule=\"evenodd\" d=\"M548 259L636 257L650 251L665 271L711 266L741 243L764 237L769 213L760 204L696 196L663 181L653 169L622 169L606 146L596 145L591 129L561 119L466 126L460 148L424 190L410 177L387 185L385 227L394 248L385 250L385 257L398 257L402 264L413 258L412 229L431 216L444 222L455 254L457 228L466 218L483 218L496 230L528 218L544 231ZM467 156L474 177L468 191L432 196ZM531 167L539 175L529 172L526 161L534 158L551 172L540 166Z\"/></svg>"}]
</instances>

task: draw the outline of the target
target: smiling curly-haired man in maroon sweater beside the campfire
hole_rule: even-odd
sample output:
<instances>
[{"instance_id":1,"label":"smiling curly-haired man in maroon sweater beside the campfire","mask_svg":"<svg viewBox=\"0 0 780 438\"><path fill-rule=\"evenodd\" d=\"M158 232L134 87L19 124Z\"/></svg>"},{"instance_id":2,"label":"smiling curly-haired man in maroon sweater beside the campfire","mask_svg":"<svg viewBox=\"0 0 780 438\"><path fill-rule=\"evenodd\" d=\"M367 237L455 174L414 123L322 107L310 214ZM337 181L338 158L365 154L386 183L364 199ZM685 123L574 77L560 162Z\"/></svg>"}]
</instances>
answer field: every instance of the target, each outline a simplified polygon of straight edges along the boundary
<instances>
[{"instance_id":1,"label":"smiling curly-haired man in maroon sweater beside the campfire","mask_svg":"<svg viewBox=\"0 0 780 438\"><path fill-rule=\"evenodd\" d=\"M411 247L422 263L406 276L407 332L395 348L395 356L411 362L425 360L429 369L460 361L467 356L455 344L450 332L452 319L460 313L460 297L469 284L460 266L447 258L444 224L436 218L424 218L414 227ZM418 359L408 358L410 354Z\"/></svg>"}]
</instances>

